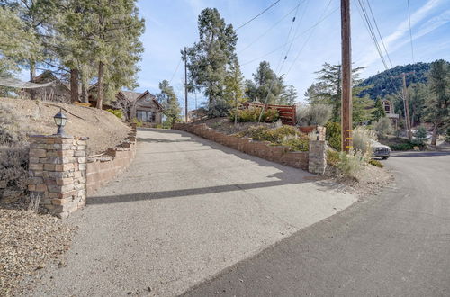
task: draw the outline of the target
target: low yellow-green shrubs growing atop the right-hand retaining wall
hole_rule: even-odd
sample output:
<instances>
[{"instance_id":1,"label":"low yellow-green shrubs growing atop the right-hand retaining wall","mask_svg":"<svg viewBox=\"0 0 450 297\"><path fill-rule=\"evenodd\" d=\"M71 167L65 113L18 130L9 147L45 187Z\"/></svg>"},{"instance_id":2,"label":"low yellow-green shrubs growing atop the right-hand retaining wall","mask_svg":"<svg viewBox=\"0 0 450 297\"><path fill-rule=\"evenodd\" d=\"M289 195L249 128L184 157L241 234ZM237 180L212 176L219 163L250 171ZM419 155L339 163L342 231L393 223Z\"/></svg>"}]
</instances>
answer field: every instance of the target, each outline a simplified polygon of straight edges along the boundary
<instances>
[{"instance_id":1,"label":"low yellow-green shrubs growing atop the right-hand retaining wall","mask_svg":"<svg viewBox=\"0 0 450 297\"><path fill-rule=\"evenodd\" d=\"M239 133L238 136L269 141L274 145L283 145L294 151L308 151L310 144L310 138L293 126L282 126L276 129L269 129L266 126L250 127Z\"/></svg>"}]
</instances>

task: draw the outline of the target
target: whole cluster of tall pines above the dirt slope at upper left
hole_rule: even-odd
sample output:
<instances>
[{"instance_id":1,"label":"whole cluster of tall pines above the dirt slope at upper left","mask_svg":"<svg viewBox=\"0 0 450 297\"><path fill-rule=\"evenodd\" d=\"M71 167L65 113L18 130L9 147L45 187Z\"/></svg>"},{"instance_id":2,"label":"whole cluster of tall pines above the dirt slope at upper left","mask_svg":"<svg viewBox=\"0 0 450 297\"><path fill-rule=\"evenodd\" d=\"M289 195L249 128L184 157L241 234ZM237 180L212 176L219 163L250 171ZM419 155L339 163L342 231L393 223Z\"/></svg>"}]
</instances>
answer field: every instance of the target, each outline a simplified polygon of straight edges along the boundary
<instances>
[{"instance_id":1,"label":"whole cluster of tall pines above the dirt slope at upper left","mask_svg":"<svg viewBox=\"0 0 450 297\"><path fill-rule=\"evenodd\" d=\"M144 20L137 0L0 0L0 75L50 69L71 85L71 101L87 102L96 84L97 108L121 88L137 86ZM31 94L31 99L32 94Z\"/></svg>"}]
</instances>

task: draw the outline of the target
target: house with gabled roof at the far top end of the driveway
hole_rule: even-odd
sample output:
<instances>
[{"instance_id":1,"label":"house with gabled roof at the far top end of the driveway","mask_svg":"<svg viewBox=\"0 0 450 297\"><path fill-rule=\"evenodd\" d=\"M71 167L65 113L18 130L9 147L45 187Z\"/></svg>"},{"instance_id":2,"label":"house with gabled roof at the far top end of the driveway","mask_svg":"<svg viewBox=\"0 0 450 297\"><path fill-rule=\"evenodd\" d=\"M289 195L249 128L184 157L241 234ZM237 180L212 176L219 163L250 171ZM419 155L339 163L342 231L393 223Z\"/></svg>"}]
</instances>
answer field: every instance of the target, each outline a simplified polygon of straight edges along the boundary
<instances>
[{"instance_id":1,"label":"house with gabled roof at the far top end of the driveway","mask_svg":"<svg viewBox=\"0 0 450 297\"><path fill-rule=\"evenodd\" d=\"M144 93L121 91L116 103L127 113L127 119L138 119L149 126L162 123L163 106L148 91Z\"/></svg>"}]
</instances>

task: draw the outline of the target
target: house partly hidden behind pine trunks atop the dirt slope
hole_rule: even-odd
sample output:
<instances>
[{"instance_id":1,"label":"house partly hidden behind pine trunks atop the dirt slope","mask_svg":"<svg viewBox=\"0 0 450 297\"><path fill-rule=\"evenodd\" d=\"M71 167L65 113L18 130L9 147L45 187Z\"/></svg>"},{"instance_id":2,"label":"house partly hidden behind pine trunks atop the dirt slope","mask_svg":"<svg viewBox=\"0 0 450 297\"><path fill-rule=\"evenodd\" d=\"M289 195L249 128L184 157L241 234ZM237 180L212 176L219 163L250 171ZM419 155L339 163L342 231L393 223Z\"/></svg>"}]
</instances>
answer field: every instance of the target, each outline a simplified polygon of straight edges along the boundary
<instances>
[{"instance_id":1,"label":"house partly hidden behind pine trunks atop the dirt slope","mask_svg":"<svg viewBox=\"0 0 450 297\"><path fill-rule=\"evenodd\" d=\"M33 92L37 99L43 101L56 101L62 103L70 102L70 85L62 82L51 71L44 71L39 76L34 77L35 84L45 84L54 82L55 85L40 87L35 89L24 89L23 92L30 94Z\"/></svg>"}]
</instances>

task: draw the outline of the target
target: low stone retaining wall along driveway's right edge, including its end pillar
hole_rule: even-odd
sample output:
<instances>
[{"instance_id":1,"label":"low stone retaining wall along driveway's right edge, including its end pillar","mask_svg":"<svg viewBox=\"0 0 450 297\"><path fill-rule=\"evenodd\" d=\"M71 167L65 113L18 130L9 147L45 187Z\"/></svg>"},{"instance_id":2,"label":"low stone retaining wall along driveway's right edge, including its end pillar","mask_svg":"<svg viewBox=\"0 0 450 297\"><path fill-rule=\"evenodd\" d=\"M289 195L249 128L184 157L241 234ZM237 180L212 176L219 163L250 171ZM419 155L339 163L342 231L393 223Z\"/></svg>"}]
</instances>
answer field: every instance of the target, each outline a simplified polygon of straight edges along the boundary
<instances>
[{"instance_id":1,"label":"low stone retaining wall along driveway's right edge, including its end pillar","mask_svg":"<svg viewBox=\"0 0 450 297\"><path fill-rule=\"evenodd\" d=\"M319 127L320 128L320 127ZM284 146L271 146L267 141L254 141L249 138L238 138L231 135L220 133L216 130L212 130L206 124L185 124L176 123L174 126L176 130L184 130L195 135L201 136L205 139L211 139L229 148L234 148L238 151L264 158L275 163L283 164L286 166L292 166L295 168L301 168L303 170L310 170L311 173L322 175L320 168L321 164L327 164L326 154L322 152L322 147L314 145L310 147L310 152L307 151L289 151L288 147ZM320 130L320 133L325 135L324 130ZM323 136L325 137L325 136ZM316 142L316 141L311 141ZM320 141L325 143L325 141ZM316 149L320 151L316 152ZM325 151L325 150L324 150ZM310 157L314 158L313 165L310 166ZM323 159L320 161L319 158ZM311 171L312 170L312 171Z\"/></svg>"}]
</instances>

